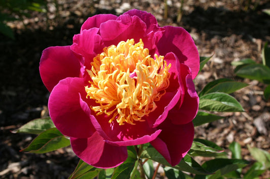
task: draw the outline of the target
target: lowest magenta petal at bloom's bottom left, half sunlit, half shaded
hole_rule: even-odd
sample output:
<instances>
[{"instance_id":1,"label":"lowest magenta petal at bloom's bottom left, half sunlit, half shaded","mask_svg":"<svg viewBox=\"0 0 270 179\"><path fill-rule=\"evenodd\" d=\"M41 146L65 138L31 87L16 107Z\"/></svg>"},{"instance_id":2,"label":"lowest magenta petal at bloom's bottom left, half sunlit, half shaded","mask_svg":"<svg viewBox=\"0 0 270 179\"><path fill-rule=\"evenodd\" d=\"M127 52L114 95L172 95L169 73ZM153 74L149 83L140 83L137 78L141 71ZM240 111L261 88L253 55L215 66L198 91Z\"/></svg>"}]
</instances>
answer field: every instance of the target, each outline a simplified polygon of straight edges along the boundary
<instances>
[{"instance_id":1,"label":"lowest magenta petal at bloom's bottom left, half sunlit, half shaded","mask_svg":"<svg viewBox=\"0 0 270 179\"><path fill-rule=\"evenodd\" d=\"M128 152L126 147L107 144L95 132L87 139L70 138L74 153L86 163L98 168L112 168L123 163Z\"/></svg>"}]
</instances>

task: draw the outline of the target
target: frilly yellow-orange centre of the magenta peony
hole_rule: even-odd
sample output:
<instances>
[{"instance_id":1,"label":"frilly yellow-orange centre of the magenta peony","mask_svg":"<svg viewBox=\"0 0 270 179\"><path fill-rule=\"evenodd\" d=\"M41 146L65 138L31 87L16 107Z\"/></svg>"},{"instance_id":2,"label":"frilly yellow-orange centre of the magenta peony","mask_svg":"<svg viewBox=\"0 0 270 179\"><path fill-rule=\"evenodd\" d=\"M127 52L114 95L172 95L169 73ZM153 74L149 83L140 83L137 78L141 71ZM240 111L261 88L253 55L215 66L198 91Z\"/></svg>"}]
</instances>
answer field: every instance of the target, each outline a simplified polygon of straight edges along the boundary
<instances>
[{"instance_id":1,"label":"frilly yellow-orange centre of the magenta peony","mask_svg":"<svg viewBox=\"0 0 270 179\"><path fill-rule=\"evenodd\" d=\"M141 39L136 44L130 39L105 47L87 70L92 79L85 87L87 97L98 104L91 109L97 115L110 116L109 123L117 120L119 125L134 125L143 121L144 115L157 108L155 101L169 86L171 64L163 59L157 54L151 58Z\"/></svg>"}]
</instances>

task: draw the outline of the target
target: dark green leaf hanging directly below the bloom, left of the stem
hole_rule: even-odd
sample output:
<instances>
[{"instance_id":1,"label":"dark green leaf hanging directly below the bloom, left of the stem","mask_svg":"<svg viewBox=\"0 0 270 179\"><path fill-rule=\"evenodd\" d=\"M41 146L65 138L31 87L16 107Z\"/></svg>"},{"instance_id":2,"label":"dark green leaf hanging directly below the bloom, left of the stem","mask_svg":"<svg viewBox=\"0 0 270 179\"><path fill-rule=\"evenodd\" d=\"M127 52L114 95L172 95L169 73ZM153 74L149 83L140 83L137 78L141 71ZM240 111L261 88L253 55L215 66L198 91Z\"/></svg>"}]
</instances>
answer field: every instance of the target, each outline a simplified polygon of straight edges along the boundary
<instances>
[{"instance_id":1,"label":"dark green leaf hanging directly below the bloom, left of the stem","mask_svg":"<svg viewBox=\"0 0 270 179\"><path fill-rule=\"evenodd\" d=\"M128 146L128 158L127 160L115 168L111 178L130 178L131 172L137 161L137 154L134 146Z\"/></svg>"}]
</instances>

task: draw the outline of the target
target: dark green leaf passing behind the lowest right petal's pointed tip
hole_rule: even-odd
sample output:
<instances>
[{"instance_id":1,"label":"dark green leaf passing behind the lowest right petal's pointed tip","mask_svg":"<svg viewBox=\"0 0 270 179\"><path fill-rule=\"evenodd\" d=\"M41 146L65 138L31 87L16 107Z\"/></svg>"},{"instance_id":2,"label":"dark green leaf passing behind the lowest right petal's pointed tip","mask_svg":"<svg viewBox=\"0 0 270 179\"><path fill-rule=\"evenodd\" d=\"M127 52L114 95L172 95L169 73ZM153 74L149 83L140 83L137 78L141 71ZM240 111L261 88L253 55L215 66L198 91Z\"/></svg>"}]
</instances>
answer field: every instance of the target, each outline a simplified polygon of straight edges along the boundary
<instances>
[{"instance_id":1,"label":"dark green leaf passing behind the lowest right petal's pointed tip","mask_svg":"<svg viewBox=\"0 0 270 179\"><path fill-rule=\"evenodd\" d=\"M164 165L171 166L167 160L155 148L152 147L145 149L141 154L141 158L148 158ZM179 164L171 167L195 174L210 174L210 172L202 168L199 163L188 155L182 158Z\"/></svg>"}]
</instances>

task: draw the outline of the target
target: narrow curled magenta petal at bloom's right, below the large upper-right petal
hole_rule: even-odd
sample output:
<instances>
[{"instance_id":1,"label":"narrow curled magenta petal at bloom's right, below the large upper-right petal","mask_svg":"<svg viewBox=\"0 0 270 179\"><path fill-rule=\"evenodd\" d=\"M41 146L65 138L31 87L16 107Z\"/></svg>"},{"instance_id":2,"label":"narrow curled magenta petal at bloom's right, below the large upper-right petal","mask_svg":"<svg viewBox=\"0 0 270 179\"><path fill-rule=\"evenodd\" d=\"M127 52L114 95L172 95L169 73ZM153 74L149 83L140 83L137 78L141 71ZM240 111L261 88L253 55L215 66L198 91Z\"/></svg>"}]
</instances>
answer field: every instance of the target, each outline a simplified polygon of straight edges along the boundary
<instances>
[{"instance_id":1,"label":"narrow curled magenta petal at bloom's right, below the large upper-right petal","mask_svg":"<svg viewBox=\"0 0 270 179\"><path fill-rule=\"evenodd\" d=\"M169 112L169 118L175 125L186 124L191 122L196 116L199 109L199 96L195 90L189 68L181 64L181 100ZM176 117L179 116L179 117Z\"/></svg>"}]
</instances>

